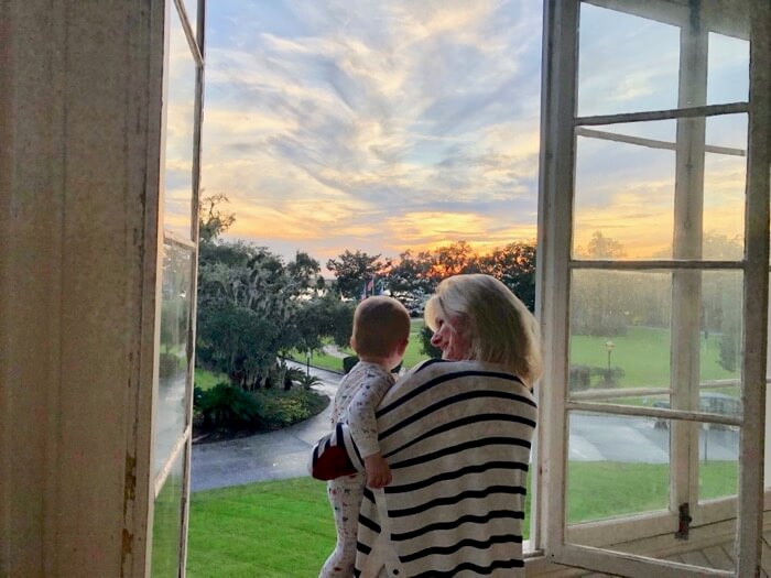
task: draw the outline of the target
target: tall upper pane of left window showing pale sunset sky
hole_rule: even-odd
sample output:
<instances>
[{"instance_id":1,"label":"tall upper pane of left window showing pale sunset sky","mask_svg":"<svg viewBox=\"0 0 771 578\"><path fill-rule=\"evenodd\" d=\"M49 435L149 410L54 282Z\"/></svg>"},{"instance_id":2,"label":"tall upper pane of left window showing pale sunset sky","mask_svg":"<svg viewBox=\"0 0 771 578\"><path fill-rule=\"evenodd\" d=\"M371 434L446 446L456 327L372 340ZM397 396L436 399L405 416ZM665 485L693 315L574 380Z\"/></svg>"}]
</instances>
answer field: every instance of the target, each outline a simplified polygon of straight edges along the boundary
<instances>
[{"instance_id":1,"label":"tall upper pane of left window showing pale sunset sky","mask_svg":"<svg viewBox=\"0 0 771 578\"><path fill-rule=\"evenodd\" d=\"M197 65L178 13L173 12L167 70L164 227L191 239Z\"/></svg>"}]
</instances>

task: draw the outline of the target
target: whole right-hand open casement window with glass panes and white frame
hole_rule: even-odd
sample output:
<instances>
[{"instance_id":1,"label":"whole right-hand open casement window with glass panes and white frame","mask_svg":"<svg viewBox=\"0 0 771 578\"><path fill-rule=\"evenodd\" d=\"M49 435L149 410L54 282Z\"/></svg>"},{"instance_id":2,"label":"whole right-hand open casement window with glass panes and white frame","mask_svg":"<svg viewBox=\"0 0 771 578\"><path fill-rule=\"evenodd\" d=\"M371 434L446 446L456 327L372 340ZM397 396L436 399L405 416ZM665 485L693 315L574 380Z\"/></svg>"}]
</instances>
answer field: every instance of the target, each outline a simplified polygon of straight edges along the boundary
<instances>
[{"instance_id":1,"label":"whole right-hand open casement window with glass panes and white frame","mask_svg":"<svg viewBox=\"0 0 771 578\"><path fill-rule=\"evenodd\" d=\"M770 31L768 0L545 3L534 547L552 561L759 571Z\"/></svg>"}]
</instances>

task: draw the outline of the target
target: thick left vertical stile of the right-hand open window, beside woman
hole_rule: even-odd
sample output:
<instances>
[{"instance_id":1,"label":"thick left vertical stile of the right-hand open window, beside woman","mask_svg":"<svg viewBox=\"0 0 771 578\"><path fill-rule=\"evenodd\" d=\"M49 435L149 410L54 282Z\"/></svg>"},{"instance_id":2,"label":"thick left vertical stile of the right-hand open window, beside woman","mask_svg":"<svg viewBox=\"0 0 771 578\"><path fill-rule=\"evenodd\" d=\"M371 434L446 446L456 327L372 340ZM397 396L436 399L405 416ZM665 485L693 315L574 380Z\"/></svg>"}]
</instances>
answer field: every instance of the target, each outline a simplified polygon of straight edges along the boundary
<instances>
[{"instance_id":1,"label":"thick left vertical stile of the right-hand open window, beside woman","mask_svg":"<svg viewBox=\"0 0 771 578\"><path fill-rule=\"evenodd\" d=\"M558 554L565 543L567 462L567 356L569 269L575 166L578 2L547 2L544 10L539 268L536 310L544 336L535 548Z\"/></svg>"}]
</instances>

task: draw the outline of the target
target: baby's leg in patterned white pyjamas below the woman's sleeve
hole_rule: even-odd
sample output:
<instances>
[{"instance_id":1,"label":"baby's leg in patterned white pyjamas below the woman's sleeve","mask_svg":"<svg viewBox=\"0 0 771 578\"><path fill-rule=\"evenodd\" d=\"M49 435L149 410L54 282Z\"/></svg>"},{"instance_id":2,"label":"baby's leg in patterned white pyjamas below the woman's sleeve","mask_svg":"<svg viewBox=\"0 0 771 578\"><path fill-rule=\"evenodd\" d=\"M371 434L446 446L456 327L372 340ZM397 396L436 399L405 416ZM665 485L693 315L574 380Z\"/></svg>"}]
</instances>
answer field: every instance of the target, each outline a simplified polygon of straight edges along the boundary
<instances>
[{"instance_id":1,"label":"baby's leg in patterned white pyjamas below the woman's sleeve","mask_svg":"<svg viewBox=\"0 0 771 578\"><path fill-rule=\"evenodd\" d=\"M337 545L327 558L319 578L350 578L356 561L356 534L359 526L359 508L365 489L361 473L337 478L327 483L329 502L335 513Z\"/></svg>"}]
</instances>

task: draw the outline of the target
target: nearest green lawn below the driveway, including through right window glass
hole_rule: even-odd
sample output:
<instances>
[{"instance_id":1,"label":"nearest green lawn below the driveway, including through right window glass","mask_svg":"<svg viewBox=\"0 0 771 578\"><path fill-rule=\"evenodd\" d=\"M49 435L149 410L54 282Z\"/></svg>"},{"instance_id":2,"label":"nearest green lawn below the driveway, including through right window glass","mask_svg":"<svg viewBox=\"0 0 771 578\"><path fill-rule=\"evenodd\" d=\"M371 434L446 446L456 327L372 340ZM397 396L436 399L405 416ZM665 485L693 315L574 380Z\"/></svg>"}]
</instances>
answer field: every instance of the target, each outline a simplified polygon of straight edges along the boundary
<instances>
[{"instance_id":1,"label":"nearest green lawn below the driveway, including through right window glass","mask_svg":"<svg viewBox=\"0 0 771 578\"><path fill-rule=\"evenodd\" d=\"M736 461L708 462L702 468L703 497L735 493L736 472ZM666 464L569 464L571 523L663 510L667 501ZM526 538L528 519L523 530ZM334 545L323 482L296 478L191 495L191 577L315 577Z\"/></svg>"}]
</instances>

